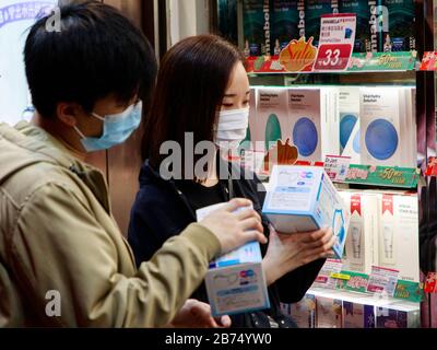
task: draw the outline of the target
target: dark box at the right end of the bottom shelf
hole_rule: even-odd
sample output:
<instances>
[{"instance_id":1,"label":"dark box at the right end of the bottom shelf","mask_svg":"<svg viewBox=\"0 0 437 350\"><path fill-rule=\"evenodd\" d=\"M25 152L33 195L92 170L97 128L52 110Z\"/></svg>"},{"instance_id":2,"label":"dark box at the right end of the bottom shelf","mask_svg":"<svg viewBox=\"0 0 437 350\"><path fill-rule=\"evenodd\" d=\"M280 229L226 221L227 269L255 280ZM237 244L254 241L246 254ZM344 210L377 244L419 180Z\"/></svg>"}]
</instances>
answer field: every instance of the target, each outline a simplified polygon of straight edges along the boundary
<instances>
[{"instance_id":1,"label":"dark box at the right end of the bottom shelf","mask_svg":"<svg viewBox=\"0 0 437 350\"><path fill-rule=\"evenodd\" d=\"M393 303L376 308L377 328L420 328L421 312L418 304Z\"/></svg>"}]
</instances>

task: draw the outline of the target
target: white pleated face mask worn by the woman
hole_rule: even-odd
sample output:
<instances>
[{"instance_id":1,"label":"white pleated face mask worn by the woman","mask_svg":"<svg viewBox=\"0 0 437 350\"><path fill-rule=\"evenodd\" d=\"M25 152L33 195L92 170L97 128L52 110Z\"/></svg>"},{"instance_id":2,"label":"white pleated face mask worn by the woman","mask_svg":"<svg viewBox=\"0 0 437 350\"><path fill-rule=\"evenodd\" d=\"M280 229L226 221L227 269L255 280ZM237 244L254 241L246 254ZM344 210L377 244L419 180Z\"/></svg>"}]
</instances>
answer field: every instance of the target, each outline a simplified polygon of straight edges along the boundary
<instances>
[{"instance_id":1,"label":"white pleated face mask worn by the woman","mask_svg":"<svg viewBox=\"0 0 437 350\"><path fill-rule=\"evenodd\" d=\"M218 114L215 144L221 149L236 150L246 138L249 108L224 110Z\"/></svg>"}]
</instances>

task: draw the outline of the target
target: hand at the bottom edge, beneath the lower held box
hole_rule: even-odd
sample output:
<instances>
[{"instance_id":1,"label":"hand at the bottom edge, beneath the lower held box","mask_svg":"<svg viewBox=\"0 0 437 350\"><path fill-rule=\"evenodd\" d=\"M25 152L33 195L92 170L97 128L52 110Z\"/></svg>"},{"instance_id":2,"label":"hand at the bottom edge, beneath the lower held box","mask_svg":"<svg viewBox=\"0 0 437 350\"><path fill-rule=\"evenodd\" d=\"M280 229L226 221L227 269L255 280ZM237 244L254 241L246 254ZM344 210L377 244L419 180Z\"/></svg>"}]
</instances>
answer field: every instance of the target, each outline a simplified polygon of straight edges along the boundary
<instances>
[{"instance_id":1,"label":"hand at the bottom edge, beneath the lower held box","mask_svg":"<svg viewBox=\"0 0 437 350\"><path fill-rule=\"evenodd\" d=\"M170 326L176 328L228 328L229 316L212 317L211 306L196 299L189 299L179 310Z\"/></svg>"}]
</instances>

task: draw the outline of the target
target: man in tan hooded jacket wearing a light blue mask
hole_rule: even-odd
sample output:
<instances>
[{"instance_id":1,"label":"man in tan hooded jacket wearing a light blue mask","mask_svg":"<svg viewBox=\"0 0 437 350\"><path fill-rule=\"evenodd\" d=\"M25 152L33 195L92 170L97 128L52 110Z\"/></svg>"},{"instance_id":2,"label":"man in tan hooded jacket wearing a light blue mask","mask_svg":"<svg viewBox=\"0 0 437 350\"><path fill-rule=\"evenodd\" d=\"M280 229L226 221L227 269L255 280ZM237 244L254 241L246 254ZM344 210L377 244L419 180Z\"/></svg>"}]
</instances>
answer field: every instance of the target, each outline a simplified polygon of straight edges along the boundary
<instances>
[{"instance_id":1,"label":"man in tan hooded jacket wearing a light blue mask","mask_svg":"<svg viewBox=\"0 0 437 350\"><path fill-rule=\"evenodd\" d=\"M108 5L63 7L61 19L61 32L40 19L25 44L33 122L0 125L0 327L216 326L204 304L182 305L214 256L264 242L259 215L234 213L250 203L235 200L137 270L104 176L83 160L139 126L154 55Z\"/></svg>"}]
</instances>

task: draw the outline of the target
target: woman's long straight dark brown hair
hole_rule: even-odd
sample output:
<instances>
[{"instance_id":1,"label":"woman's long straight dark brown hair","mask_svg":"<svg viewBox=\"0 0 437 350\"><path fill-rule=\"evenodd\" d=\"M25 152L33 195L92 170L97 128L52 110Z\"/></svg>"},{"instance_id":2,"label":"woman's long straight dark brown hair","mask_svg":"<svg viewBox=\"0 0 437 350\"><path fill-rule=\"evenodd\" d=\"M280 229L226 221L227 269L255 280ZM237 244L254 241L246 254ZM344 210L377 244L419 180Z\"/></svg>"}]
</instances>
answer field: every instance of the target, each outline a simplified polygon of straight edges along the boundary
<instances>
[{"instance_id":1,"label":"woman's long straight dark brown hair","mask_svg":"<svg viewBox=\"0 0 437 350\"><path fill-rule=\"evenodd\" d=\"M161 62L145 119L143 159L158 168L167 156L160 154L160 148L169 140L181 145L184 158L185 132L193 132L194 145L213 141L213 126L229 77L235 65L244 60L234 45L215 35L188 37L169 49ZM194 161L200 156L193 155Z\"/></svg>"}]
</instances>

